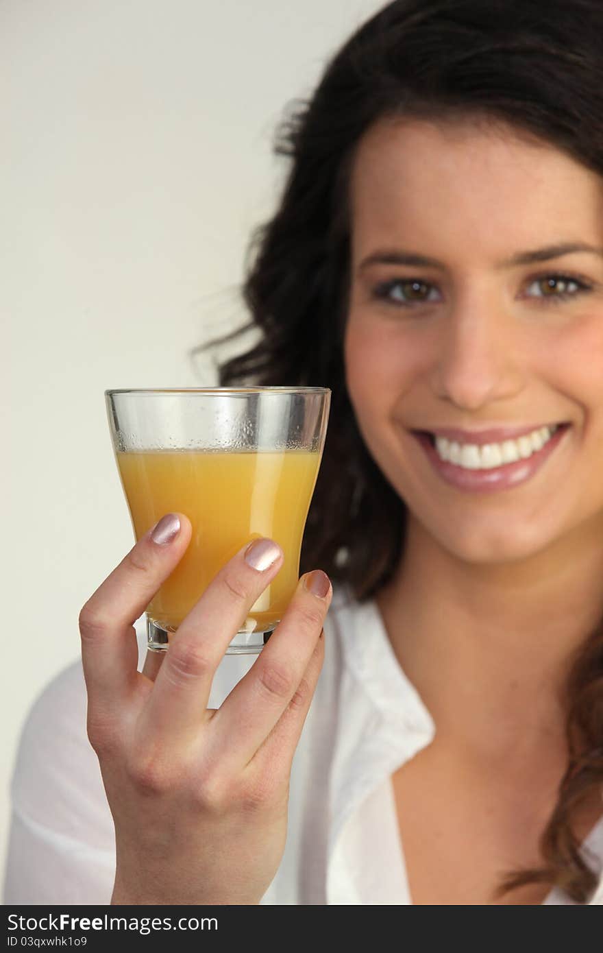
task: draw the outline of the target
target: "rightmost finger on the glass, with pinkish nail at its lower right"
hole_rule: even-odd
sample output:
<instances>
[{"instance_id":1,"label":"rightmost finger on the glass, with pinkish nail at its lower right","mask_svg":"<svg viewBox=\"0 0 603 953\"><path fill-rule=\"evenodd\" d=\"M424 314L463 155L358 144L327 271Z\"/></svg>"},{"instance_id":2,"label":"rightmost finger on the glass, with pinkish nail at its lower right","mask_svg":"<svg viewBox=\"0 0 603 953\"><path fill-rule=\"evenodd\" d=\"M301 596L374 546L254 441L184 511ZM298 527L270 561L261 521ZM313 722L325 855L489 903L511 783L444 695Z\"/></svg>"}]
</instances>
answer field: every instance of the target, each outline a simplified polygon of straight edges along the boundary
<instances>
[{"instance_id":1,"label":"rightmost finger on the glass, with pinkish nail at its lower right","mask_svg":"<svg viewBox=\"0 0 603 953\"><path fill-rule=\"evenodd\" d=\"M281 622L247 675L232 689L212 722L211 746L234 770L248 764L268 738L311 662L332 599L329 578L302 577Z\"/></svg>"}]
</instances>

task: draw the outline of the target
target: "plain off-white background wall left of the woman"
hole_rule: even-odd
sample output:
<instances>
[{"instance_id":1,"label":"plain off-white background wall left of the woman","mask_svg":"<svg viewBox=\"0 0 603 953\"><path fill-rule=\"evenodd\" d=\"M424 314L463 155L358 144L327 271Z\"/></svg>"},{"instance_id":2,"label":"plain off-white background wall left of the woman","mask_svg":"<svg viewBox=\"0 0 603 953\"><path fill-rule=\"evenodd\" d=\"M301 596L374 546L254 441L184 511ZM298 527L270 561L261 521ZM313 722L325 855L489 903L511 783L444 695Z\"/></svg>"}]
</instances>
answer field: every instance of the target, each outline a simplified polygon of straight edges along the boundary
<instances>
[{"instance_id":1,"label":"plain off-white background wall left of the woman","mask_svg":"<svg viewBox=\"0 0 603 953\"><path fill-rule=\"evenodd\" d=\"M211 386L288 102L382 0L0 0L4 744L131 548L103 391Z\"/></svg>"}]
</instances>

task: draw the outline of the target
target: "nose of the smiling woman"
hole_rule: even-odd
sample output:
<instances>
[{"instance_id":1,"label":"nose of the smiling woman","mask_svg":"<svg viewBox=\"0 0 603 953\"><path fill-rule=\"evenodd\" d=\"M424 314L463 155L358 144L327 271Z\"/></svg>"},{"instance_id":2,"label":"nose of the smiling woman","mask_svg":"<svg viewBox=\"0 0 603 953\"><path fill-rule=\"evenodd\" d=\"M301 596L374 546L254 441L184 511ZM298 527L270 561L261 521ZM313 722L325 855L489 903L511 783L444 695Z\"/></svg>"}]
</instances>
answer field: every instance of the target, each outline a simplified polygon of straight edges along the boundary
<instances>
[{"instance_id":1,"label":"nose of the smiling woman","mask_svg":"<svg viewBox=\"0 0 603 953\"><path fill-rule=\"evenodd\" d=\"M525 341L522 347L513 314L492 295L459 298L437 335L431 383L439 399L476 411L521 390Z\"/></svg>"}]
</instances>

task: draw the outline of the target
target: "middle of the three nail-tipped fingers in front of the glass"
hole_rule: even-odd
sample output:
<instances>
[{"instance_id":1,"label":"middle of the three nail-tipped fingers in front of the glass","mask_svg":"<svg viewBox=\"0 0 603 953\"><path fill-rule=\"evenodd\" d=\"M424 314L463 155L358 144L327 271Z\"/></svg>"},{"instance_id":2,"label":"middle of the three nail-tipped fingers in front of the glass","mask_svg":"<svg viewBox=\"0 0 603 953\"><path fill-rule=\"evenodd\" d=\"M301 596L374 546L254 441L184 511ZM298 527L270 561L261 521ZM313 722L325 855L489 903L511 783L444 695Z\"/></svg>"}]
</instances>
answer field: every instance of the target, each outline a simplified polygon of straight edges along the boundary
<instances>
[{"instance_id":1,"label":"middle of the three nail-tipped fingers in front of the glass","mask_svg":"<svg viewBox=\"0 0 603 953\"><path fill-rule=\"evenodd\" d=\"M215 670L282 564L280 546L254 539L212 579L171 639L143 713L143 731L171 745L197 736Z\"/></svg>"}]
</instances>

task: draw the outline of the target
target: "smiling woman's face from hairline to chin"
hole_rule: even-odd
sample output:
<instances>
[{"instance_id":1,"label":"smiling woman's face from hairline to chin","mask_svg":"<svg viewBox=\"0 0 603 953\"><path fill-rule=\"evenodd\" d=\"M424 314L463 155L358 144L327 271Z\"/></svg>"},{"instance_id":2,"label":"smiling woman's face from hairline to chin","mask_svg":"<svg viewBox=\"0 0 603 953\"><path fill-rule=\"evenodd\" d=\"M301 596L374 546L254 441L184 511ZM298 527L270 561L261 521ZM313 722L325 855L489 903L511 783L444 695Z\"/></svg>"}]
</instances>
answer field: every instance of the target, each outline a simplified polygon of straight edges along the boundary
<instances>
[{"instance_id":1,"label":"smiling woman's face from hairline to chin","mask_svg":"<svg viewBox=\"0 0 603 953\"><path fill-rule=\"evenodd\" d=\"M601 179L504 127L382 122L351 201L348 389L412 517L477 562L603 532Z\"/></svg>"}]
</instances>

